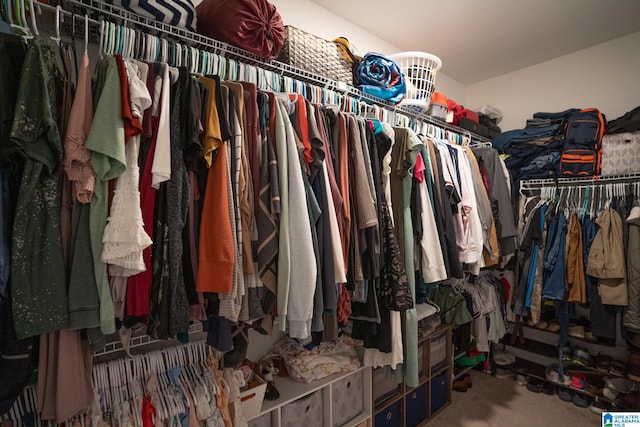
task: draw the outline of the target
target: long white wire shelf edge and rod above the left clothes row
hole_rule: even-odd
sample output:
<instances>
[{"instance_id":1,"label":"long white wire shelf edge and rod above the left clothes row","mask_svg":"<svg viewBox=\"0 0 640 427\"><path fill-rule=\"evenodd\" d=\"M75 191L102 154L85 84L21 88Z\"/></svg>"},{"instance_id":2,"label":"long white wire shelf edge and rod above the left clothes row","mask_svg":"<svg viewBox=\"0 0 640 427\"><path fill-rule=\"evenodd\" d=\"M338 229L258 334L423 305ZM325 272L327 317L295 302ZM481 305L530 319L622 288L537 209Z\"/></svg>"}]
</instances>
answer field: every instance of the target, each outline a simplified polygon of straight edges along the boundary
<instances>
[{"instance_id":1,"label":"long white wire shelf edge and rod above the left clothes row","mask_svg":"<svg viewBox=\"0 0 640 427\"><path fill-rule=\"evenodd\" d=\"M40 1L35 1L34 3L45 4L41 3ZM168 24L153 21L151 19L129 12L125 9L116 7L104 1L61 0L60 3L65 6L69 5L74 12L79 13L78 16L82 16L84 15L84 13L87 13L90 16L93 15L94 19L92 23L94 25L96 23L99 23L99 19L95 19L96 16L98 16L105 20L121 21L125 24L130 23L134 26L141 26L148 31L163 33L171 40L178 41L180 43L186 43L201 50L214 52L218 55L224 56L225 58L234 59L244 64L254 65L271 72L286 75L287 77L294 78L308 84L319 86L321 88L332 89L336 92L347 94L355 99L366 100L370 103L379 105L380 107L385 108L392 113L398 113L408 116L417 122L431 124L442 129L460 134L460 136L468 136L469 139L473 141L486 142L488 140L487 138L475 134L467 129L442 122L427 114L416 112L409 107L402 105L393 105L383 99L367 95L357 88L351 85L347 85L346 83L331 80L329 78L319 76L317 74L279 61L262 60L250 52L247 52L235 46L231 46L227 43L203 36L198 33L176 28Z\"/></svg>"}]
</instances>

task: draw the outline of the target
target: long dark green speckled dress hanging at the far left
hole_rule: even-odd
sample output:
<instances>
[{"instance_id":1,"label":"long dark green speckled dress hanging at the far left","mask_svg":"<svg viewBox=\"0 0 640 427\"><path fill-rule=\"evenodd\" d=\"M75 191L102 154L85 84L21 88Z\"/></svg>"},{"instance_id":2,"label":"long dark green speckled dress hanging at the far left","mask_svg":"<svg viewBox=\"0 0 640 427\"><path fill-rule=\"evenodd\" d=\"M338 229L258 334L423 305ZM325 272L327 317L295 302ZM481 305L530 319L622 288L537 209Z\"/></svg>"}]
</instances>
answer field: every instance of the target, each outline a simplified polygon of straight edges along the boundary
<instances>
[{"instance_id":1,"label":"long dark green speckled dress hanging at the far left","mask_svg":"<svg viewBox=\"0 0 640 427\"><path fill-rule=\"evenodd\" d=\"M11 140L26 156L16 203L16 212L22 214L14 220L11 248L12 305L15 318L20 319L15 325L18 339L69 324L60 250L62 142L57 126L61 101L57 48L48 37L31 40L11 129ZM107 323L105 316L105 326Z\"/></svg>"}]
</instances>

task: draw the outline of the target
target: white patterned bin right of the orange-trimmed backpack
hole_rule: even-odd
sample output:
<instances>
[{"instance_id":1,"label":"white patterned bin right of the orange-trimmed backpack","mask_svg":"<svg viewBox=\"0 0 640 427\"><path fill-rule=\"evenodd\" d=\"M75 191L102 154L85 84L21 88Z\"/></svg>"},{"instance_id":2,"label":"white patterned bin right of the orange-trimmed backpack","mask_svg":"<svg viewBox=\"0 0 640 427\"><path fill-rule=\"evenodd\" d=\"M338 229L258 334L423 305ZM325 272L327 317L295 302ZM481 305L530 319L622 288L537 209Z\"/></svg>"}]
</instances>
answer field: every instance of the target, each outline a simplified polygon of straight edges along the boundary
<instances>
[{"instance_id":1,"label":"white patterned bin right of the orange-trimmed backpack","mask_svg":"<svg viewBox=\"0 0 640 427\"><path fill-rule=\"evenodd\" d=\"M605 135L602 138L602 175L640 172L640 132Z\"/></svg>"}]
</instances>

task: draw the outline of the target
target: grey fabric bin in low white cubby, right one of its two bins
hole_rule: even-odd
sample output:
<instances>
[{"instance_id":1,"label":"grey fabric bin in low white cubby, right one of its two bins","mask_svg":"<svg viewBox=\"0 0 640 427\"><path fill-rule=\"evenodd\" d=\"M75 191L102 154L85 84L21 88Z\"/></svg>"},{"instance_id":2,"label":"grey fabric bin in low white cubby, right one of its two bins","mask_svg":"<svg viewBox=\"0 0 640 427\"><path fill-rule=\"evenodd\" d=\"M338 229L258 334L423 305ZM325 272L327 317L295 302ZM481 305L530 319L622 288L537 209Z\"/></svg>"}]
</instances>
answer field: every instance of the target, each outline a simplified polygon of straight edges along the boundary
<instances>
[{"instance_id":1,"label":"grey fabric bin in low white cubby, right one of its two bins","mask_svg":"<svg viewBox=\"0 0 640 427\"><path fill-rule=\"evenodd\" d=\"M333 425L341 426L364 410L362 371L349 375L331 385Z\"/></svg>"}]
</instances>

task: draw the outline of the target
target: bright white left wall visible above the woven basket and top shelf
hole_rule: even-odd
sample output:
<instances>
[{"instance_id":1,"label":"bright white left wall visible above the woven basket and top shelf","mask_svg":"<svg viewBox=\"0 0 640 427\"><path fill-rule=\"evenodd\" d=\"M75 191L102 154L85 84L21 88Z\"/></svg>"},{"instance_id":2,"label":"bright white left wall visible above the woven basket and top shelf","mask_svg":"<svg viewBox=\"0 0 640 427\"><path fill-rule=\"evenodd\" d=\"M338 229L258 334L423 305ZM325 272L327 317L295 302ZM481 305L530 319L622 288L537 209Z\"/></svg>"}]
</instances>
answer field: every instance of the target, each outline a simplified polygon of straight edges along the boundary
<instances>
[{"instance_id":1,"label":"bright white left wall visible above the woven basket and top shelf","mask_svg":"<svg viewBox=\"0 0 640 427\"><path fill-rule=\"evenodd\" d=\"M346 37L361 55L367 52L390 55L401 51L397 46L309 0L270 0L270 3L275 5L285 25L292 25L326 40ZM464 85L457 80L439 73L436 76L436 90L463 104Z\"/></svg>"}]
</instances>

